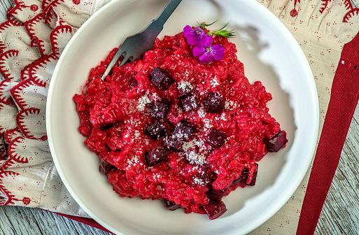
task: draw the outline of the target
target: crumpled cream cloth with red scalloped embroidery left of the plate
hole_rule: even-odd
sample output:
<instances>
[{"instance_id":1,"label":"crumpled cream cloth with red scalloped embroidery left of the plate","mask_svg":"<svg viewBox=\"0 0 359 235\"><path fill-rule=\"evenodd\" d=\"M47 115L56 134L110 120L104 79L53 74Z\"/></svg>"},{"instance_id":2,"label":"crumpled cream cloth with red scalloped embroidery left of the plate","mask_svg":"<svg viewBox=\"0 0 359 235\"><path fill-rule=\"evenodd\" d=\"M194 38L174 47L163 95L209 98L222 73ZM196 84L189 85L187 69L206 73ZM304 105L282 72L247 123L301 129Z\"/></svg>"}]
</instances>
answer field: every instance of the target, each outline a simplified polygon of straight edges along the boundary
<instances>
[{"instance_id":1,"label":"crumpled cream cloth with red scalloped embroidery left of the plate","mask_svg":"<svg viewBox=\"0 0 359 235\"><path fill-rule=\"evenodd\" d=\"M19 0L1 24L0 71L5 80L0 83L0 206L89 217L52 162L45 104L66 43L108 1Z\"/></svg>"}]
</instances>

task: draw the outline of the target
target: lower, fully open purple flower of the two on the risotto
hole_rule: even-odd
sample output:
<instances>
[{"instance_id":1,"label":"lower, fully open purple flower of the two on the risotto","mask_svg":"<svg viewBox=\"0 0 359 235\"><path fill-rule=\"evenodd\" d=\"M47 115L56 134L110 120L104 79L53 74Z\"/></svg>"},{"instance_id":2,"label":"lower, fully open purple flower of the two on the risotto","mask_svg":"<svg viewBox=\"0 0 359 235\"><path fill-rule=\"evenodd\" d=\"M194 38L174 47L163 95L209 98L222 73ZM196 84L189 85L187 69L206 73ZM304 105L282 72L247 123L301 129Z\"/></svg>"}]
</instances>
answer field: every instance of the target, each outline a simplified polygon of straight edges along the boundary
<instances>
[{"instance_id":1,"label":"lower, fully open purple flower of the two on the risotto","mask_svg":"<svg viewBox=\"0 0 359 235\"><path fill-rule=\"evenodd\" d=\"M195 48L193 48L193 56L199 57L199 62L208 64L213 59L220 60L225 56L225 48L223 45L212 45L213 38L202 38ZM211 46L212 45L212 46Z\"/></svg>"}]
</instances>

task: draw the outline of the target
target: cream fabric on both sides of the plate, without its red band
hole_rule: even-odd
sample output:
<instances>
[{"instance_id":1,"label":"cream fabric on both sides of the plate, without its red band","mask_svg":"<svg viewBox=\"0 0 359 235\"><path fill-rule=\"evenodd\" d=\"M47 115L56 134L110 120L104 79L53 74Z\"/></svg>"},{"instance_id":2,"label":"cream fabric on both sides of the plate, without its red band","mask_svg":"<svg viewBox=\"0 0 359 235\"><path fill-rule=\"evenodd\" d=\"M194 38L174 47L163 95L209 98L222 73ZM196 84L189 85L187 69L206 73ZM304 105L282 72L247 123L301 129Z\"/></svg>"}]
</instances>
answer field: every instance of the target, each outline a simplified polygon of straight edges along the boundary
<instances>
[{"instance_id":1,"label":"cream fabric on both sides of the plate, without its red band","mask_svg":"<svg viewBox=\"0 0 359 235\"><path fill-rule=\"evenodd\" d=\"M108 0L109 1L109 0ZM107 1L23 0L0 26L0 206L44 208L88 217L64 187L45 131L55 64L71 36ZM358 33L351 1L259 1L302 46L318 87L321 127L342 48ZM295 234L309 173L288 203L251 234Z\"/></svg>"}]
</instances>

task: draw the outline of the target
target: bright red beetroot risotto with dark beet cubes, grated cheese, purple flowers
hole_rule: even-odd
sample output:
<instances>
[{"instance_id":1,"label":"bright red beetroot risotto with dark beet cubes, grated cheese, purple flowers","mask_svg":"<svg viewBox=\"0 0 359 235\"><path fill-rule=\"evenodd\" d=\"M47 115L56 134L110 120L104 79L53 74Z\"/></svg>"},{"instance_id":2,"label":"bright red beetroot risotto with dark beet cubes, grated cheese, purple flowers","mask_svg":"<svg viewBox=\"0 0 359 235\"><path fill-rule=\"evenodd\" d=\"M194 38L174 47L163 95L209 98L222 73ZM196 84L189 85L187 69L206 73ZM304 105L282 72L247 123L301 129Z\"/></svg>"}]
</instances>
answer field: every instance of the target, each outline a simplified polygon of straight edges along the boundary
<instances>
[{"instance_id":1,"label":"bright red beetroot risotto with dark beet cubes, grated cheese, purple flowers","mask_svg":"<svg viewBox=\"0 0 359 235\"><path fill-rule=\"evenodd\" d=\"M287 139L268 113L272 95L244 76L232 31L208 25L157 38L103 81L115 48L73 99L85 145L115 192L216 219L227 211L222 198L255 185L257 162Z\"/></svg>"}]
</instances>

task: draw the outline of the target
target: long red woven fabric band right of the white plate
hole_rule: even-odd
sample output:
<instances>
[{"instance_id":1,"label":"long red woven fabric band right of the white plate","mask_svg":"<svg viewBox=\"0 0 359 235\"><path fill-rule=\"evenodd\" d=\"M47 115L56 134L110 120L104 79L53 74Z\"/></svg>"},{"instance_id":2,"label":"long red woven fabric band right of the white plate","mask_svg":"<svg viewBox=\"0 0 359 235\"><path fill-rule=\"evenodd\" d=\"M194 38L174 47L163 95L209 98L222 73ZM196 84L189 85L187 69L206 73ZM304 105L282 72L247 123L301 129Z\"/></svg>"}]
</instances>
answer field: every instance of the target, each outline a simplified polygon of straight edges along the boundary
<instances>
[{"instance_id":1,"label":"long red woven fabric band right of the white plate","mask_svg":"<svg viewBox=\"0 0 359 235\"><path fill-rule=\"evenodd\" d=\"M342 51L297 234L314 234L359 99L359 34Z\"/></svg>"}]
</instances>

